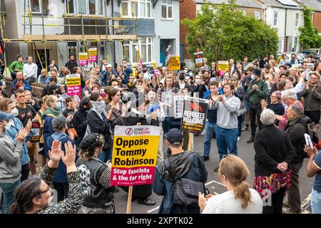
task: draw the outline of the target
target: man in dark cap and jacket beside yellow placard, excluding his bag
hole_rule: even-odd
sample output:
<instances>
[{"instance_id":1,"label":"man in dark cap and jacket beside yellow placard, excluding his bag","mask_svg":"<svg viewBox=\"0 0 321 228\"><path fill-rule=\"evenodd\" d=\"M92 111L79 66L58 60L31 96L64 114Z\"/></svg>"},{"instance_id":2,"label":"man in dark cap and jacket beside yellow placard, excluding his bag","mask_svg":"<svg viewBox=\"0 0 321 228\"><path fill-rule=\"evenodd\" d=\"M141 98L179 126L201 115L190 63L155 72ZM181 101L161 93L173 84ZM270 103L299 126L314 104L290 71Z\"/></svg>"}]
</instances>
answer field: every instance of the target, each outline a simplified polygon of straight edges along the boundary
<instances>
[{"instance_id":1,"label":"man in dark cap and jacket beside yellow placard, excluding his bag","mask_svg":"<svg viewBox=\"0 0 321 228\"><path fill-rule=\"evenodd\" d=\"M175 204L173 200L174 186L173 177L185 178L196 182L205 183L208 180L208 172L205 164L198 153L190 153L183 150L183 135L179 129L173 128L164 135L165 143L171 151L168 157L172 175L168 172L168 167L163 164L156 166L156 172L153 182L153 191L157 195L163 195L160 214L198 214L200 207L198 204ZM165 163L165 161L164 161Z\"/></svg>"}]
</instances>

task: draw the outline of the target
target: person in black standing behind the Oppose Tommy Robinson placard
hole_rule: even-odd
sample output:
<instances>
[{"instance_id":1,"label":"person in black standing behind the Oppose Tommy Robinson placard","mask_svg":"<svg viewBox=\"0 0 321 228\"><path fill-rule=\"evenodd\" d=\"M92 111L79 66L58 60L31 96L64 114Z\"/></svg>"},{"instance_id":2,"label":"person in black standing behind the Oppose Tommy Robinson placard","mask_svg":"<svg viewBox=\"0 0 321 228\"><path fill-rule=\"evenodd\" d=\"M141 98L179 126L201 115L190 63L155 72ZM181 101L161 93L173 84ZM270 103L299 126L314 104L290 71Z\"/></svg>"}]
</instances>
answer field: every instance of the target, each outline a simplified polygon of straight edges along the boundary
<instances>
[{"instance_id":1,"label":"person in black standing behind the Oppose Tommy Robinson placard","mask_svg":"<svg viewBox=\"0 0 321 228\"><path fill-rule=\"evenodd\" d=\"M131 93L134 94L134 93ZM125 113L126 118L124 119L124 125L133 126L141 123L141 125L149 125L145 115L145 100L144 94L138 93L137 96L131 96L131 110ZM151 120L153 126L158 126L157 118ZM159 142L162 143L162 142ZM128 187L121 187L123 190L128 192ZM132 200L138 199L138 204L145 204L148 206L153 206L156 204L155 201L149 199L152 195L152 185L136 185L133 186L133 197Z\"/></svg>"}]
</instances>

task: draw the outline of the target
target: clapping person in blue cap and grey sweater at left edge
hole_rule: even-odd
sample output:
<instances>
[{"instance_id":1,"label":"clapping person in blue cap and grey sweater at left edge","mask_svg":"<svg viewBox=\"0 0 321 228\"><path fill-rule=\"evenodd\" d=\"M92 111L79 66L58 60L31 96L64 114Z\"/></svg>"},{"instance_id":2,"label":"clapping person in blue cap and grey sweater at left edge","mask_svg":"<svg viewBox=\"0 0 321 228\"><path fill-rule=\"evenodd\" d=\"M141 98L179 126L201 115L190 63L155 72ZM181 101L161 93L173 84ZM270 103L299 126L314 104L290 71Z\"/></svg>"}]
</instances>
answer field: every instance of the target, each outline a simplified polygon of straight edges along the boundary
<instances>
[{"instance_id":1,"label":"clapping person in blue cap and grey sweater at left edge","mask_svg":"<svg viewBox=\"0 0 321 228\"><path fill-rule=\"evenodd\" d=\"M0 188L4 192L2 214L9 213L9 205L14 202L14 190L20 185L21 152L24 139L29 134L29 128L19 130L16 135L16 145L6 135L6 125L14 118L12 114L0 111Z\"/></svg>"}]
</instances>

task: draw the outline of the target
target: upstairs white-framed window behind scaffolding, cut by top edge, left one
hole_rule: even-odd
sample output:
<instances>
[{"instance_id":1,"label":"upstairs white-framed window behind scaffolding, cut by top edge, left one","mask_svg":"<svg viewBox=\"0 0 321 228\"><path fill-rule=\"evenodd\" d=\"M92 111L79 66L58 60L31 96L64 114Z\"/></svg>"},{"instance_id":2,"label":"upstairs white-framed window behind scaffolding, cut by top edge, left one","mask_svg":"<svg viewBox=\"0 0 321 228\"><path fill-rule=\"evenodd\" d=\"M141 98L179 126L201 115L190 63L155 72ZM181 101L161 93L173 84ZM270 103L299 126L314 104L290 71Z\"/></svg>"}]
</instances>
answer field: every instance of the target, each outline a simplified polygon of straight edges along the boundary
<instances>
[{"instance_id":1,"label":"upstairs white-framed window behind scaffolding, cut by top edge, left one","mask_svg":"<svg viewBox=\"0 0 321 228\"><path fill-rule=\"evenodd\" d=\"M66 0L66 14L103 15L103 0Z\"/></svg>"}]
</instances>

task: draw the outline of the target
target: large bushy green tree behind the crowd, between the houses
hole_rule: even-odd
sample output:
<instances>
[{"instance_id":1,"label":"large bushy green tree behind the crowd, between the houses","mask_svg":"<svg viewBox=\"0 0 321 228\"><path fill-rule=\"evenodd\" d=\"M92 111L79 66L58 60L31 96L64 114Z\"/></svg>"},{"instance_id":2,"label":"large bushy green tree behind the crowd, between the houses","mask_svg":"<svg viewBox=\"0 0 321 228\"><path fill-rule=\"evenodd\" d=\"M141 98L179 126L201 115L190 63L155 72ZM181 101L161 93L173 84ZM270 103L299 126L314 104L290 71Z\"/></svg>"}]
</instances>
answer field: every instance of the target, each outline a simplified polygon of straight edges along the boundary
<instances>
[{"instance_id":1,"label":"large bushy green tree behind the crowd, between the houses","mask_svg":"<svg viewBox=\"0 0 321 228\"><path fill-rule=\"evenodd\" d=\"M195 20L183 19L191 56L199 48L208 61L263 58L277 53L277 32L253 16L243 16L235 0L204 2Z\"/></svg>"}]
</instances>

